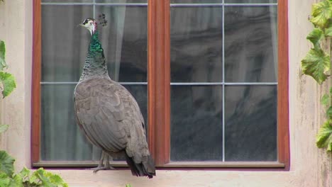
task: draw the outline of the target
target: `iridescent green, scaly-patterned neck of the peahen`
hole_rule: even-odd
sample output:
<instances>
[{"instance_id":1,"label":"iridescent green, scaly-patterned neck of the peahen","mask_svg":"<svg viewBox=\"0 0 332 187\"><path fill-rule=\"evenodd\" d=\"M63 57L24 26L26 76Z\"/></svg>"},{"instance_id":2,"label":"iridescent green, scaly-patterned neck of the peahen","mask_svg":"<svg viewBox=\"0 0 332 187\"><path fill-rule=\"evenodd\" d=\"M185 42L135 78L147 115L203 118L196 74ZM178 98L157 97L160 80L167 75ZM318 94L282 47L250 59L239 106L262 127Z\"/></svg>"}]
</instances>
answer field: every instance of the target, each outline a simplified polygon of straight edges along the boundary
<instances>
[{"instance_id":1,"label":"iridescent green, scaly-patterned neck of the peahen","mask_svg":"<svg viewBox=\"0 0 332 187\"><path fill-rule=\"evenodd\" d=\"M79 81L93 77L109 77L104 50L101 47L101 43L98 38L98 31L96 31L91 37L87 58L85 60L83 72Z\"/></svg>"}]
</instances>

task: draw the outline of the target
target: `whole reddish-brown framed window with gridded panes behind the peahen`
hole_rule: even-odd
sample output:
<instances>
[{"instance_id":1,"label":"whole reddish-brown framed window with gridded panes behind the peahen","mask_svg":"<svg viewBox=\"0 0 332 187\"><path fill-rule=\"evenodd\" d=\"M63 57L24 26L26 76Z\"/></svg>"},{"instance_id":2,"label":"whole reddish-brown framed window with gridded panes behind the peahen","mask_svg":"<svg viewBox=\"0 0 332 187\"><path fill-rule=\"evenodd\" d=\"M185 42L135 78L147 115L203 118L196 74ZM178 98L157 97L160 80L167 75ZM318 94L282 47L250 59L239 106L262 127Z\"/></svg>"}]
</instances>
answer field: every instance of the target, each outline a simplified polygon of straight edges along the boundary
<instances>
[{"instance_id":1,"label":"whole reddish-brown framed window with gridded panes behind the peahen","mask_svg":"<svg viewBox=\"0 0 332 187\"><path fill-rule=\"evenodd\" d=\"M138 101L157 166L289 168L287 1L35 0L34 7L34 166L99 159L74 123L72 93L89 42L76 25L105 13L99 38L110 77Z\"/></svg>"}]
</instances>

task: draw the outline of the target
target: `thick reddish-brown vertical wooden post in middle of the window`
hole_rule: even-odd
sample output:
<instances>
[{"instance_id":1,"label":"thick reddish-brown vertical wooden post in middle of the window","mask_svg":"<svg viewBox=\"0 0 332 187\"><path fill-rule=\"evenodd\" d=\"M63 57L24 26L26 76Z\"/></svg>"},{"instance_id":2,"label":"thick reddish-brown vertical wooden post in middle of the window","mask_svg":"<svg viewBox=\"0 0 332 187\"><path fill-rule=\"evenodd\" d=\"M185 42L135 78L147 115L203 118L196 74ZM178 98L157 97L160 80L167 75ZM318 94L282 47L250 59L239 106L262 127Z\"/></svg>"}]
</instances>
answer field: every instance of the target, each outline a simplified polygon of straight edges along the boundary
<instances>
[{"instance_id":1,"label":"thick reddish-brown vertical wooden post in middle of the window","mask_svg":"<svg viewBox=\"0 0 332 187\"><path fill-rule=\"evenodd\" d=\"M170 162L170 1L148 0L148 140L155 164Z\"/></svg>"}]
</instances>

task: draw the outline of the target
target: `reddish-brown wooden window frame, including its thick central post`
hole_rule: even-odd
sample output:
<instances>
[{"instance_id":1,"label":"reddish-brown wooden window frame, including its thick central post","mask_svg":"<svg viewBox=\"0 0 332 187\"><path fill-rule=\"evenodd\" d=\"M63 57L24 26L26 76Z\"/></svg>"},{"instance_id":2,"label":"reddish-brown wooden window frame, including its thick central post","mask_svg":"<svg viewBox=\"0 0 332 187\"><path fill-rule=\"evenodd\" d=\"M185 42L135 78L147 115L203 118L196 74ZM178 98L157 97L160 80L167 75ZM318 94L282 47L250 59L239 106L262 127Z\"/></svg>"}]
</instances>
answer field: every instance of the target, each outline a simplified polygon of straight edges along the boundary
<instances>
[{"instance_id":1,"label":"reddish-brown wooden window frame, including its thick central post","mask_svg":"<svg viewBox=\"0 0 332 187\"><path fill-rule=\"evenodd\" d=\"M148 0L148 124L150 124L148 140L150 152L153 154L157 166L289 171L287 3L287 0L278 1L278 161L170 162L170 0ZM41 6L40 0L33 0L31 163L33 166L83 166L82 164L40 162L40 68ZM123 165L123 163L118 164L118 166Z\"/></svg>"}]
</instances>

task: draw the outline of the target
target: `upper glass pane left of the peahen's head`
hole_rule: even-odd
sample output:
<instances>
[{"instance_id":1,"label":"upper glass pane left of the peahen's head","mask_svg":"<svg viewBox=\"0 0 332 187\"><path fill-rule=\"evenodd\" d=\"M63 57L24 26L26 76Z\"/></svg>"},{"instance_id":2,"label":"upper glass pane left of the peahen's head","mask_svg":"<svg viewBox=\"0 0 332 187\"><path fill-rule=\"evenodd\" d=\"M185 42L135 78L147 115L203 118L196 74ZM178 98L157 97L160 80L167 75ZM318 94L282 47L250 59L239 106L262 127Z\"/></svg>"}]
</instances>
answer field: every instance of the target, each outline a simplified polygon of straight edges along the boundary
<instances>
[{"instance_id":1,"label":"upper glass pane left of the peahen's head","mask_svg":"<svg viewBox=\"0 0 332 187\"><path fill-rule=\"evenodd\" d=\"M92 13L92 6L42 6L42 81L79 80L89 31L77 25Z\"/></svg>"}]
</instances>

